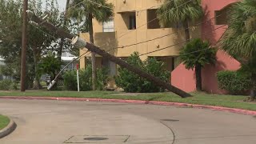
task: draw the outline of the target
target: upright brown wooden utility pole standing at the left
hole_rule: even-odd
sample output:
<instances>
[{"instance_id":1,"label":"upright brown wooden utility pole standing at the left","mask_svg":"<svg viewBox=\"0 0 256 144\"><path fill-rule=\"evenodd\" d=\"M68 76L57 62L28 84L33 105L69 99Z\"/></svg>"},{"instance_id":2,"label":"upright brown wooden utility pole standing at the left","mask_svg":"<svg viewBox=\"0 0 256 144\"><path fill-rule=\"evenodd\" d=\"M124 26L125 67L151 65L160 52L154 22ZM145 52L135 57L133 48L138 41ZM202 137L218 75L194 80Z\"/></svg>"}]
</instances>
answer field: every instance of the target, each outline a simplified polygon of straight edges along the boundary
<instances>
[{"instance_id":1,"label":"upright brown wooden utility pole standing at the left","mask_svg":"<svg viewBox=\"0 0 256 144\"><path fill-rule=\"evenodd\" d=\"M23 1L23 20L22 20L22 66L21 66L21 91L26 90L26 46L27 46L27 13L28 0Z\"/></svg>"}]
</instances>

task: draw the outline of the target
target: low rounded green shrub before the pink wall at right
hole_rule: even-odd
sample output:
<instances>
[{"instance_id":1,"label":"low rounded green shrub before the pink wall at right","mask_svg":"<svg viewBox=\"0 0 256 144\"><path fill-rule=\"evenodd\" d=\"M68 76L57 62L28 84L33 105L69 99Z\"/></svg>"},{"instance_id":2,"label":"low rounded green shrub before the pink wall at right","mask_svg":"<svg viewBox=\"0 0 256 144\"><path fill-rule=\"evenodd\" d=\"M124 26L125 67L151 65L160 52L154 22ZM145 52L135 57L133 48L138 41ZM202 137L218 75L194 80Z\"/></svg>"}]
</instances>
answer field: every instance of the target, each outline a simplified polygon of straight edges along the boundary
<instances>
[{"instance_id":1,"label":"low rounded green shrub before the pink wall at right","mask_svg":"<svg viewBox=\"0 0 256 144\"><path fill-rule=\"evenodd\" d=\"M238 71L220 71L217 78L219 88L230 94L245 94L251 87L250 76Z\"/></svg>"}]
</instances>

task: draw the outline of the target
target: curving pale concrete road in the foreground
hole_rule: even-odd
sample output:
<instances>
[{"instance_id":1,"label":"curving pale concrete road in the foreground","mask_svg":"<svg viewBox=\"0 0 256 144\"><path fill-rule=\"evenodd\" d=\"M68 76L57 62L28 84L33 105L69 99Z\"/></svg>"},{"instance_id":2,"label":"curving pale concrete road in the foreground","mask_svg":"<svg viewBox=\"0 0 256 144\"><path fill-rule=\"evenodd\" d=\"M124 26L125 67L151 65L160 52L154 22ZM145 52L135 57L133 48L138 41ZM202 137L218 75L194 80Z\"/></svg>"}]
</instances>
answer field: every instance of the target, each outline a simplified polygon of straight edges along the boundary
<instances>
[{"instance_id":1,"label":"curving pale concrete road in the foreground","mask_svg":"<svg viewBox=\"0 0 256 144\"><path fill-rule=\"evenodd\" d=\"M256 143L256 118L214 110L1 99L0 114L18 125L1 144Z\"/></svg>"}]
</instances>

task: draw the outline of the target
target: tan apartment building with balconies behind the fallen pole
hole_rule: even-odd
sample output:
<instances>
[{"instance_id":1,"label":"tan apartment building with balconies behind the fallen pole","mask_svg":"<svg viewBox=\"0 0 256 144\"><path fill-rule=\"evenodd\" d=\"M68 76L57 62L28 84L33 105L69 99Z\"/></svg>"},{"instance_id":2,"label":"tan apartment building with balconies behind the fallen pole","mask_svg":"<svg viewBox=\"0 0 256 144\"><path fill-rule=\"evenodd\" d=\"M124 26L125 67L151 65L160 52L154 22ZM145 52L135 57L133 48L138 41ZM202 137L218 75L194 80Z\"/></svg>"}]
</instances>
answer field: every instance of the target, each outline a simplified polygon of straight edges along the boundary
<instances>
[{"instance_id":1,"label":"tan apartment building with balconies behind the fallen pole","mask_svg":"<svg viewBox=\"0 0 256 144\"><path fill-rule=\"evenodd\" d=\"M170 71L178 66L177 56L183 43L178 46L172 45L185 40L184 30L178 24L168 28L159 25L156 10L162 5L163 0L109 0L109 2L114 4L114 18L103 23L94 21L96 46L119 58L127 58L134 51L138 51L139 54L145 54L141 57L142 60L155 57L166 62L166 69ZM190 34L198 35L200 28L194 28L193 31ZM89 34L81 34L81 37L89 42ZM158 39L145 42L154 38ZM133 45L136 43L138 44ZM165 47L168 48L147 54ZM86 49L81 50L80 54L85 52ZM100 56L96 59L98 67L108 66L110 75L116 74L117 66L113 62L108 62ZM81 68L86 66L86 58L81 59L80 65Z\"/></svg>"}]
</instances>

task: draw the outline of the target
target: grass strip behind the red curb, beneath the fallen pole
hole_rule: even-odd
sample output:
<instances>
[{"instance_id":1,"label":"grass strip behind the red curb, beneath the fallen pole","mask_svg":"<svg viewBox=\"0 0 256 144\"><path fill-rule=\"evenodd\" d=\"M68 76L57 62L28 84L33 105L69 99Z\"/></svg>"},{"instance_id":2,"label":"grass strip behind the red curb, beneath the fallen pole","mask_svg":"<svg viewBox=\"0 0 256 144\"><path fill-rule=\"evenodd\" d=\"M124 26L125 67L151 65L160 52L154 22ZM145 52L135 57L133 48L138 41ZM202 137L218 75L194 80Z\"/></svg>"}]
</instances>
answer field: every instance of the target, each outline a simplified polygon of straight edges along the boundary
<instances>
[{"instance_id":1,"label":"grass strip behind the red curb, beneath the fallen pole","mask_svg":"<svg viewBox=\"0 0 256 144\"><path fill-rule=\"evenodd\" d=\"M192 93L194 97L180 98L172 93L154 93L129 95L126 93L109 92L109 91L46 91L46 90L27 90L25 93L19 91L0 91L1 96L43 96L43 97L68 97L68 98L109 98L109 99L126 99L126 100L145 100L145 101L162 101L162 102L183 102L190 104L200 104L209 106L224 106L244 110L256 110L255 102L243 102L246 96L218 95Z\"/></svg>"}]
</instances>

